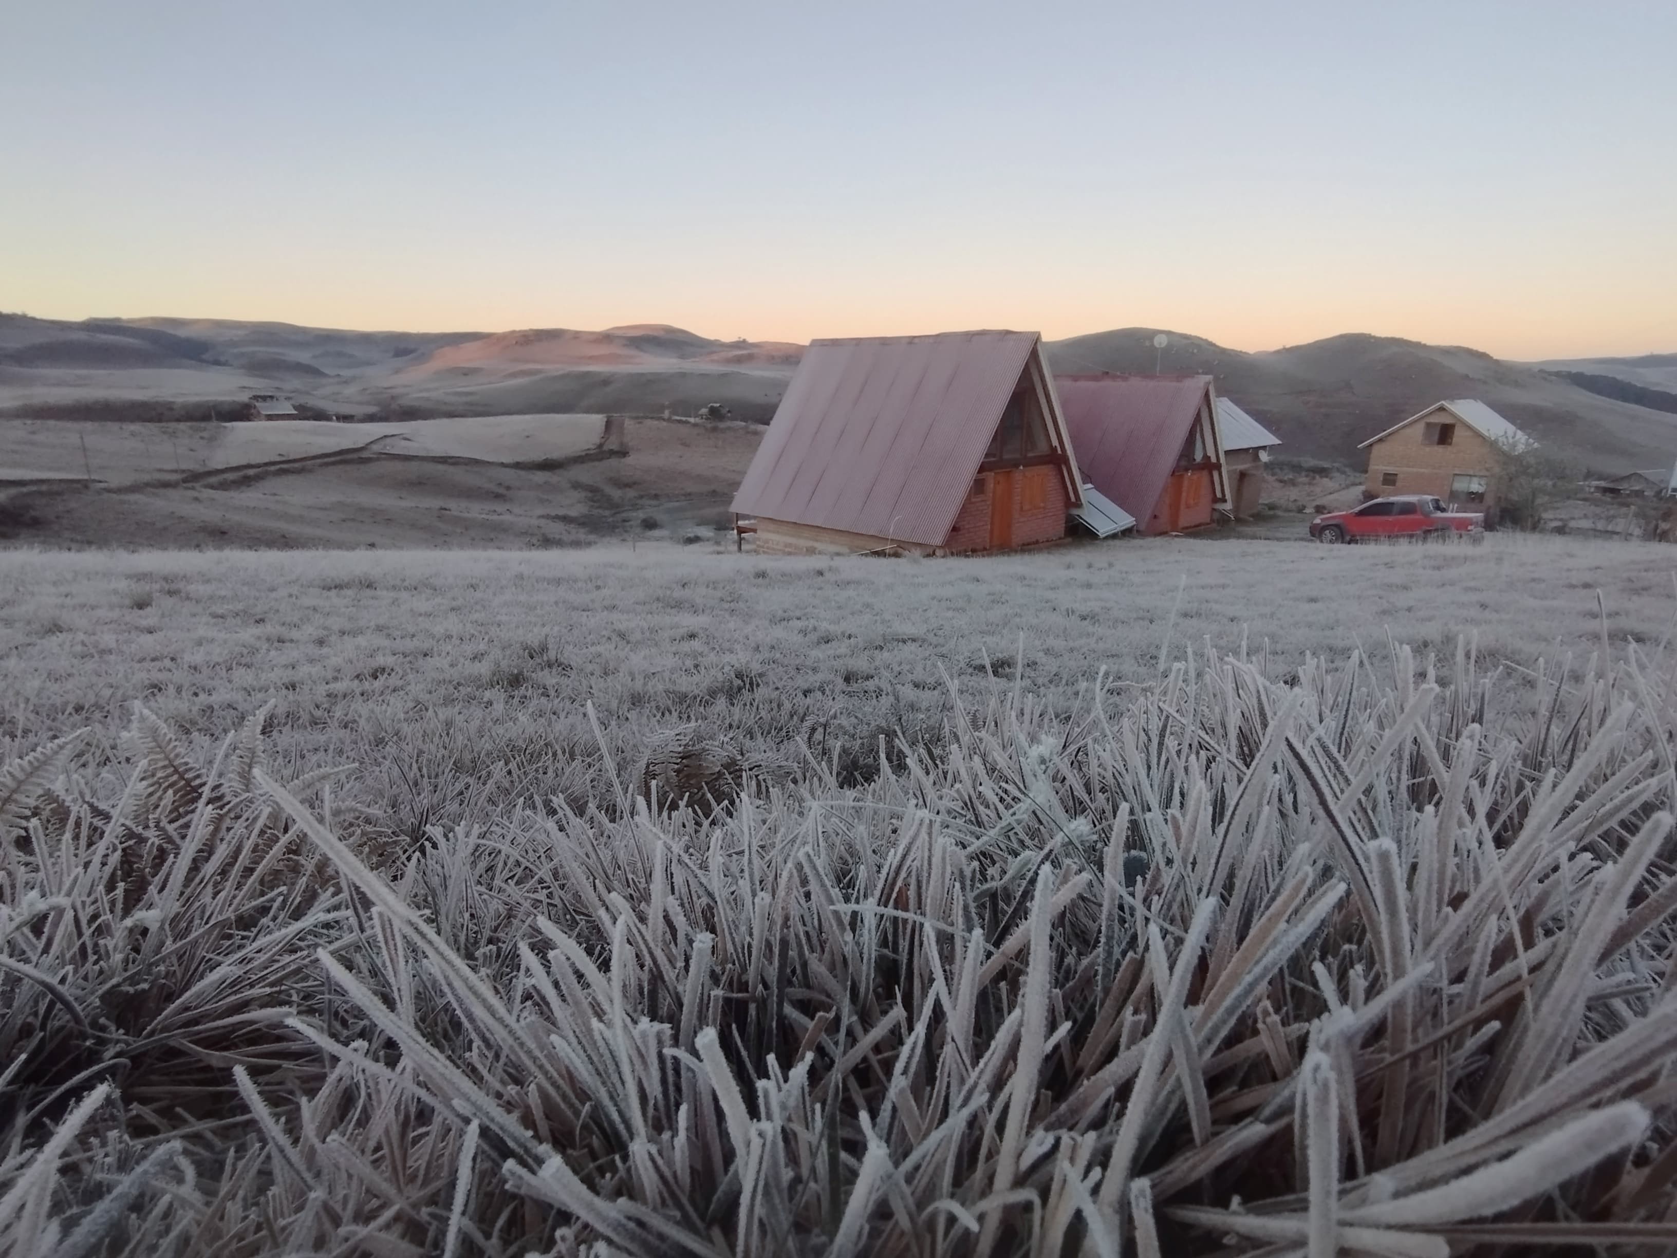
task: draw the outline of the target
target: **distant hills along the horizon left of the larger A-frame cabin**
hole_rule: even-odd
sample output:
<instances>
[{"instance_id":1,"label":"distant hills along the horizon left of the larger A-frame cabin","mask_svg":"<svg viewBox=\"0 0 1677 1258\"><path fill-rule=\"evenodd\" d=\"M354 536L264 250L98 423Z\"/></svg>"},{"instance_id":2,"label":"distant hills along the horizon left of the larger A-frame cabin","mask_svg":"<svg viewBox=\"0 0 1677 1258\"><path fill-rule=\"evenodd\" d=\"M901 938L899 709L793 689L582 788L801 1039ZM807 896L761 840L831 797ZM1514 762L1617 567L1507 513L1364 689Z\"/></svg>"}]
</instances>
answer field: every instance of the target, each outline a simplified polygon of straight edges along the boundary
<instances>
[{"instance_id":1,"label":"distant hills along the horizon left of the larger A-frame cabin","mask_svg":"<svg viewBox=\"0 0 1677 1258\"><path fill-rule=\"evenodd\" d=\"M721 403L741 419L766 423L802 352L666 324L352 332L225 319L0 315L0 414L210 418L252 392L282 392L322 411L399 409L408 418L691 414Z\"/></svg>"}]
</instances>

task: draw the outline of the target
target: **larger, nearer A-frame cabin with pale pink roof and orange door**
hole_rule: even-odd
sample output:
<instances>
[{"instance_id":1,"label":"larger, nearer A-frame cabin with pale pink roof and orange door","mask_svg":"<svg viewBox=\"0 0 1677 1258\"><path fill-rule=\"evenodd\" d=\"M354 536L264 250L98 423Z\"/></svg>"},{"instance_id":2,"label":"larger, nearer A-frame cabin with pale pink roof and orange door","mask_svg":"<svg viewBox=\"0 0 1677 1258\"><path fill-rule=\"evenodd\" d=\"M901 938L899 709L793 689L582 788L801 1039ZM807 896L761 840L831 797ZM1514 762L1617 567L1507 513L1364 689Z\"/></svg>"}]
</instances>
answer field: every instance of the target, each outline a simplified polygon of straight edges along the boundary
<instances>
[{"instance_id":1,"label":"larger, nearer A-frame cabin with pale pink roof and orange door","mask_svg":"<svg viewBox=\"0 0 1677 1258\"><path fill-rule=\"evenodd\" d=\"M815 340L735 495L763 554L1016 550L1083 502L1035 332Z\"/></svg>"}]
</instances>

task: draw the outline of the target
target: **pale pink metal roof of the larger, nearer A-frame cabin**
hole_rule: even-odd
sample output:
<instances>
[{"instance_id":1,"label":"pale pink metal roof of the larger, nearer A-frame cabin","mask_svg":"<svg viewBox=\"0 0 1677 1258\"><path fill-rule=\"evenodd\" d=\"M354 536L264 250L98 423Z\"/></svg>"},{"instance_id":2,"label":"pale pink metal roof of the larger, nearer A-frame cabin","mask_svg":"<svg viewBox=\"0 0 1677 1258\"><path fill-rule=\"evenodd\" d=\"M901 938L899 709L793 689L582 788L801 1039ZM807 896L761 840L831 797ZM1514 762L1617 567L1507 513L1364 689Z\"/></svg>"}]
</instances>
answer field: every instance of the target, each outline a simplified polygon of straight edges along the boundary
<instances>
[{"instance_id":1,"label":"pale pink metal roof of the larger, nearer A-frame cabin","mask_svg":"<svg viewBox=\"0 0 1677 1258\"><path fill-rule=\"evenodd\" d=\"M942 545L1035 332L813 340L736 515Z\"/></svg>"}]
</instances>

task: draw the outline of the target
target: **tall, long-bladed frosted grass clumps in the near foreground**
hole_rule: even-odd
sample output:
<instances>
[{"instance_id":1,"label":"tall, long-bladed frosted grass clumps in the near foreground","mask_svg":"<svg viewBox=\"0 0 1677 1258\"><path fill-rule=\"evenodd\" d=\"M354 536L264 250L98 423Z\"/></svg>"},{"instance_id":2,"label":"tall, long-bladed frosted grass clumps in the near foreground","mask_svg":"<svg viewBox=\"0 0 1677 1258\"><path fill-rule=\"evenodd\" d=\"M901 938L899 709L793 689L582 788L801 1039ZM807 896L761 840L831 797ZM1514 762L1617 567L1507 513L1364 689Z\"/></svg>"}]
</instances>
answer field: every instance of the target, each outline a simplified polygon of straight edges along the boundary
<instances>
[{"instance_id":1,"label":"tall, long-bladed frosted grass clumps in the near foreground","mask_svg":"<svg viewBox=\"0 0 1677 1258\"><path fill-rule=\"evenodd\" d=\"M1452 668L999 688L859 787L413 847L260 716L49 743L0 1251L1670 1251L1674 652L1518 723Z\"/></svg>"}]
</instances>

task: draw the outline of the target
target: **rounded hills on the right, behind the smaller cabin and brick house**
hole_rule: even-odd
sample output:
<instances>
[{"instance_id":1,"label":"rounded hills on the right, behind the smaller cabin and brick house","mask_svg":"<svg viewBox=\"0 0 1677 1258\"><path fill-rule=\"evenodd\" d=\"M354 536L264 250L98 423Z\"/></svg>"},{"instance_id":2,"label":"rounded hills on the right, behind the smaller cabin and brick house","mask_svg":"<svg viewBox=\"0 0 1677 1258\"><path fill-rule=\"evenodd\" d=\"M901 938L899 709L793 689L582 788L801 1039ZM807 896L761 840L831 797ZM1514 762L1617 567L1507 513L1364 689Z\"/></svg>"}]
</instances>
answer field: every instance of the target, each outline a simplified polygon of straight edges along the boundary
<instances>
[{"instance_id":1,"label":"rounded hills on the right, behind the smaller cabin and brick house","mask_svg":"<svg viewBox=\"0 0 1677 1258\"><path fill-rule=\"evenodd\" d=\"M1145 374L1154 371L1159 330L1125 327L1055 340L1046 354L1060 372ZM1477 349L1345 334L1248 354L1167 329L1166 337L1159 369L1214 376L1219 392L1283 439L1283 456L1355 466L1362 461L1358 443L1451 398L1477 398L1539 441L1602 471L1659 466L1677 455L1677 418Z\"/></svg>"}]
</instances>

